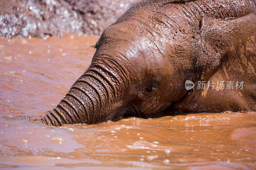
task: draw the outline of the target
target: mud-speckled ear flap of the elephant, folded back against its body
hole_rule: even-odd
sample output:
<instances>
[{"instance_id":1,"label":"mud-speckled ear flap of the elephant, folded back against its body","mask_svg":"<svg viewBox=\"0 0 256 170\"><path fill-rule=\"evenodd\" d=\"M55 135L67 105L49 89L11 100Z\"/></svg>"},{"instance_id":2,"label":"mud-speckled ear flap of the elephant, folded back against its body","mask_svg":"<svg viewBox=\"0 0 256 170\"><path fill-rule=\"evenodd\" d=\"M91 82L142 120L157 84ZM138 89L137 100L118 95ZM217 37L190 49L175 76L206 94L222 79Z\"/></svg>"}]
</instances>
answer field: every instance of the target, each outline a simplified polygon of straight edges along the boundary
<instances>
[{"instance_id":1,"label":"mud-speckled ear flap of the elephant, folded back against its body","mask_svg":"<svg viewBox=\"0 0 256 170\"><path fill-rule=\"evenodd\" d=\"M234 57L229 55L230 49L241 50L241 44L245 48L248 37L255 36L255 33L254 14L226 19L203 17L196 44L194 81L210 77L226 57Z\"/></svg>"}]
</instances>

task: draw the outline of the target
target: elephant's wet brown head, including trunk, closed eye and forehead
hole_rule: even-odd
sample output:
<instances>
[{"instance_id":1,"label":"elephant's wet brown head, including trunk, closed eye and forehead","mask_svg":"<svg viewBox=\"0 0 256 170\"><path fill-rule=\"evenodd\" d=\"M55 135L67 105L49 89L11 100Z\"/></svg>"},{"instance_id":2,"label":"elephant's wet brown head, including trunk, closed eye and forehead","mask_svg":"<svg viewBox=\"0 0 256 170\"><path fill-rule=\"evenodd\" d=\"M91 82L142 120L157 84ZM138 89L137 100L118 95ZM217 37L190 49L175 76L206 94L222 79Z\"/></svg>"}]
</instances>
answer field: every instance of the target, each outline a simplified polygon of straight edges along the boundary
<instances>
[{"instance_id":1,"label":"elephant's wet brown head, including trunk, closed eye and forehead","mask_svg":"<svg viewBox=\"0 0 256 170\"><path fill-rule=\"evenodd\" d=\"M185 81L196 82L211 74L232 42L223 38L224 48L217 48L218 41L209 37L220 33L206 25L217 22L204 18L200 31L201 19L194 21L193 27L181 11L167 7L162 11L176 13L180 23L157 11L157 4L147 4L131 8L105 29L94 46L90 67L41 121L60 126L104 122L124 115L146 118L192 93L193 89L185 89Z\"/></svg>"}]
</instances>

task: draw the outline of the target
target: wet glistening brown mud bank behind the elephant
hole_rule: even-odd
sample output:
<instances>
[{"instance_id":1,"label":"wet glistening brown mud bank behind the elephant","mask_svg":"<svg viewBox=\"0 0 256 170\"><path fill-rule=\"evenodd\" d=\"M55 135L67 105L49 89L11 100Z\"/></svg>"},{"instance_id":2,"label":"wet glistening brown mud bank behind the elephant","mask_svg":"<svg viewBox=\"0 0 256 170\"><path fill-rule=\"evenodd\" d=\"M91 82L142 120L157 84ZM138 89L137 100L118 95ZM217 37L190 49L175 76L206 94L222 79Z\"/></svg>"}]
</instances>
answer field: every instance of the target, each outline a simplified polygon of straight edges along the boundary
<instances>
[{"instance_id":1,"label":"wet glistening brown mud bank behind the elephant","mask_svg":"<svg viewBox=\"0 0 256 170\"><path fill-rule=\"evenodd\" d=\"M1 37L95 34L141 0L0 0Z\"/></svg>"}]
</instances>

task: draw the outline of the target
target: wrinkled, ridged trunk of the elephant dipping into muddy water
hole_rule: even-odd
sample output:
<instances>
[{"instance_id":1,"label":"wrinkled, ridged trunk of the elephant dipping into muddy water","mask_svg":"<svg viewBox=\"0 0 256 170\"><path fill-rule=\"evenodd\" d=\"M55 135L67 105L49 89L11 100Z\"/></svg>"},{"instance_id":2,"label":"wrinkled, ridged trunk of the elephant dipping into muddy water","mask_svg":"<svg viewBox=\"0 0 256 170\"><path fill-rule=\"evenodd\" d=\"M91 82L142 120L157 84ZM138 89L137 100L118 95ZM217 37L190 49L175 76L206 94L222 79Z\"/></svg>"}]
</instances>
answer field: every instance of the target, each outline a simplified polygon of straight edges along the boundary
<instances>
[{"instance_id":1,"label":"wrinkled, ridged trunk of the elephant dipping into muddy water","mask_svg":"<svg viewBox=\"0 0 256 170\"><path fill-rule=\"evenodd\" d=\"M48 125L61 126L110 120L116 116L113 113L121 105L118 101L122 92L121 81L121 76L113 67L95 63L78 78L57 107L41 121Z\"/></svg>"}]
</instances>

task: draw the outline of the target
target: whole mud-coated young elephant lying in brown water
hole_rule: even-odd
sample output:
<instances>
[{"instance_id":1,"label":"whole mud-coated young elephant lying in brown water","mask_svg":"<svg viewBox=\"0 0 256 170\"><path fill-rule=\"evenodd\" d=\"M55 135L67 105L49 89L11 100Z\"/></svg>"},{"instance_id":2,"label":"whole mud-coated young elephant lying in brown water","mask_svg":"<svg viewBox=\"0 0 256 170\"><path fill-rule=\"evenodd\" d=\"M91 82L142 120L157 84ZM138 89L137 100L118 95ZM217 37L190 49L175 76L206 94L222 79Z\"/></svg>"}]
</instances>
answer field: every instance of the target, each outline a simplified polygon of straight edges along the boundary
<instances>
[{"instance_id":1,"label":"whole mud-coated young elephant lying in brown water","mask_svg":"<svg viewBox=\"0 0 256 170\"><path fill-rule=\"evenodd\" d=\"M136 5L102 33L90 67L41 121L90 124L166 109L255 111L255 5L254 0ZM243 80L244 88L186 90L186 80Z\"/></svg>"}]
</instances>

